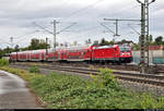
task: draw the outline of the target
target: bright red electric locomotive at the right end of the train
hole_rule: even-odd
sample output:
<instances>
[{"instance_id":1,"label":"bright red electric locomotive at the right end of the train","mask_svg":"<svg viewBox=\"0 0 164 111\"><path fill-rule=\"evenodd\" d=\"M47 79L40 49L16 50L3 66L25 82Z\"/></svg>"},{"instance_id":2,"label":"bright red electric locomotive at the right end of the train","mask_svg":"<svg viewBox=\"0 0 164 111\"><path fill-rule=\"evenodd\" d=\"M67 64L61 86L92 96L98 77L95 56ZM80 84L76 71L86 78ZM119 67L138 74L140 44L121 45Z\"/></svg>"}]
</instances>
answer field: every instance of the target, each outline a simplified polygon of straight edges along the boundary
<instances>
[{"instance_id":1,"label":"bright red electric locomotive at the right end of the train","mask_svg":"<svg viewBox=\"0 0 164 111\"><path fill-rule=\"evenodd\" d=\"M130 63L132 61L131 48L119 45L94 47L92 61Z\"/></svg>"}]
</instances>

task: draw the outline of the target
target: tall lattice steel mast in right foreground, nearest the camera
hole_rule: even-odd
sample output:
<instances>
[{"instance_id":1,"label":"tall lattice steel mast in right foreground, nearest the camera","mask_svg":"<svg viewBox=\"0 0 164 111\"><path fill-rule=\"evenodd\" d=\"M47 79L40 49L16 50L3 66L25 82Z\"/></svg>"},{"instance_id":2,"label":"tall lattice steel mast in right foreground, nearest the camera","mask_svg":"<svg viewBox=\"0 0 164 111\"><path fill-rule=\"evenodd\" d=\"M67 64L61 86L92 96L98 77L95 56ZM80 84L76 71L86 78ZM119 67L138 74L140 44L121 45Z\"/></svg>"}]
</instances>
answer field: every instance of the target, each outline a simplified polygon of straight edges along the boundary
<instances>
[{"instance_id":1,"label":"tall lattice steel mast in right foreground, nearest the camera","mask_svg":"<svg viewBox=\"0 0 164 111\"><path fill-rule=\"evenodd\" d=\"M149 4L155 2L155 0L151 2L149 2L149 0L144 0L144 2L140 0L137 1L141 3L140 64L141 73L145 73L147 69L149 69Z\"/></svg>"}]
</instances>

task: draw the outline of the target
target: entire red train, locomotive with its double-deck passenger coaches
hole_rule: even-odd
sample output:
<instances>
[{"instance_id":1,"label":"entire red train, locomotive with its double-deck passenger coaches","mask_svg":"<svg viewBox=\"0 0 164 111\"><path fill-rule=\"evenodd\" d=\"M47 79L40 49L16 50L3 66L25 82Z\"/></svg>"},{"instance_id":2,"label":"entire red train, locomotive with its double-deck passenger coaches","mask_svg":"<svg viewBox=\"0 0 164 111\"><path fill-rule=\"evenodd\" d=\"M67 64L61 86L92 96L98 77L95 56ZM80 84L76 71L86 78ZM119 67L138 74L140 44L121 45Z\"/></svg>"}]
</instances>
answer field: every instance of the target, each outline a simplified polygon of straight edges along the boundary
<instances>
[{"instance_id":1,"label":"entire red train, locomotive with its double-deck passenger coaches","mask_svg":"<svg viewBox=\"0 0 164 111\"><path fill-rule=\"evenodd\" d=\"M127 45L69 47L12 52L10 61L130 63L132 52Z\"/></svg>"}]
</instances>

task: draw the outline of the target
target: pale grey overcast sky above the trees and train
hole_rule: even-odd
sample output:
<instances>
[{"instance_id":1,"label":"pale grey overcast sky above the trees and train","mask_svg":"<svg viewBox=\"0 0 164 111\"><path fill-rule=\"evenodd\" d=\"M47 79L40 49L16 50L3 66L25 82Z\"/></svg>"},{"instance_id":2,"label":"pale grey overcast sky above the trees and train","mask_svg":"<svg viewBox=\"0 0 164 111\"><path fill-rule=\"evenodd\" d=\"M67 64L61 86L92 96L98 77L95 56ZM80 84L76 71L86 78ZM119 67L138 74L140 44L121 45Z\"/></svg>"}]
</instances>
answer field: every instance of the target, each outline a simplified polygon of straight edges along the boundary
<instances>
[{"instance_id":1,"label":"pale grey overcast sky above the trees and train","mask_svg":"<svg viewBox=\"0 0 164 111\"><path fill-rule=\"evenodd\" d=\"M143 1L143 0L141 0ZM45 39L52 42L52 35L44 32L33 23L52 32L54 20L57 20L57 32L77 24L57 35L60 44L78 41L83 45L89 38L99 40L113 39L99 23L104 18L140 18L140 4L136 0L0 0L0 48L9 45L13 37L14 45L26 47L32 38ZM156 0L150 4L150 34L155 37L164 36L164 1ZM115 30L114 22L105 22ZM140 32L138 22L120 22L119 35L116 40L127 39L138 41L138 34L127 24ZM37 32L39 30L39 32ZM104 33L106 32L106 33Z\"/></svg>"}]
</instances>

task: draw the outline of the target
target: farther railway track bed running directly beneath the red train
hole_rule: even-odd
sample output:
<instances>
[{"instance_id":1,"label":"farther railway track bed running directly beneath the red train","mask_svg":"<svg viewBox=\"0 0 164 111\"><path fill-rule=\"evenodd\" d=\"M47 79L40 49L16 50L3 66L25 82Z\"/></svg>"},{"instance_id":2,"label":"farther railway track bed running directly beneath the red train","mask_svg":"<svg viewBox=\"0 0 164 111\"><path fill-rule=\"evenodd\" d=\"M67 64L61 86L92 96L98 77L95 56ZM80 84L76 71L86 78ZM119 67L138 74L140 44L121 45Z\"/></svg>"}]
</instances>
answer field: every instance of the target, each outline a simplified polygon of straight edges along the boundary
<instances>
[{"instance_id":1,"label":"farther railway track bed running directly beneath the red train","mask_svg":"<svg viewBox=\"0 0 164 111\"><path fill-rule=\"evenodd\" d=\"M16 63L21 63L21 64L39 64L39 65L43 65L43 63L40 62L16 62ZM139 72L140 71L140 67L138 65L133 65L133 64L121 64L121 65L118 65L118 64L101 64L101 63L85 63L85 62L82 62L82 63L65 63L65 62L52 62L52 63L49 63L49 62L45 62L47 65L62 65L62 66L79 66L79 67L91 67L91 66L94 66L95 69L99 69L99 67L108 67L108 69L112 69L112 70L122 70L122 71L136 71L136 72ZM164 65L150 65L150 73L152 74L164 74Z\"/></svg>"}]
</instances>

